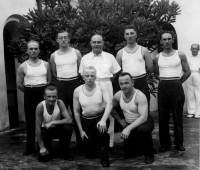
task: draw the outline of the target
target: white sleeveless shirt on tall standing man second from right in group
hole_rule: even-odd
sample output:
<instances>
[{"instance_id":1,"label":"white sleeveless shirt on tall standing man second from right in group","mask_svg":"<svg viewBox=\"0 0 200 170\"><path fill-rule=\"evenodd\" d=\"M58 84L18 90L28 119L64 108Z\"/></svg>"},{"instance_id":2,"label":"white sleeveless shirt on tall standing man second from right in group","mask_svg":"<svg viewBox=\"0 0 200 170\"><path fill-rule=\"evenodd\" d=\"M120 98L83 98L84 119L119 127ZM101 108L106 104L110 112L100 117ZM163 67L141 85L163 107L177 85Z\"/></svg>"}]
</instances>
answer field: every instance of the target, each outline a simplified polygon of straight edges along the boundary
<instances>
[{"instance_id":1,"label":"white sleeveless shirt on tall standing man second from right in group","mask_svg":"<svg viewBox=\"0 0 200 170\"><path fill-rule=\"evenodd\" d=\"M123 48L122 54L123 72L128 72L131 76L136 77L146 73L145 60L142 56L142 47L139 46L136 52L128 53Z\"/></svg>"}]
</instances>

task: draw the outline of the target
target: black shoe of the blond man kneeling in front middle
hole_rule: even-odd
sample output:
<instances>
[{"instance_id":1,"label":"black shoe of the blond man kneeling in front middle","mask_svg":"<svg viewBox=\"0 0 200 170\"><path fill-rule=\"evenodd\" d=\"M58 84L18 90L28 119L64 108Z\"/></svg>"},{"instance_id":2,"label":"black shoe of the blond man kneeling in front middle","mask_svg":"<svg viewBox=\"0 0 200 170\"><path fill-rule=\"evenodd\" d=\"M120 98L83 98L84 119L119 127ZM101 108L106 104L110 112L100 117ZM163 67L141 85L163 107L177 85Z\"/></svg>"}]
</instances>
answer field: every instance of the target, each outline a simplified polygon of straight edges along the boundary
<instances>
[{"instance_id":1,"label":"black shoe of the blond man kneeling in front middle","mask_svg":"<svg viewBox=\"0 0 200 170\"><path fill-rule=\"evenodd\" d=\"M101 160L102 167L109 167L110 161L109 161L109 149L106 147L102 147L99 152L99 157Z\"/></svg>"}]
</instances>

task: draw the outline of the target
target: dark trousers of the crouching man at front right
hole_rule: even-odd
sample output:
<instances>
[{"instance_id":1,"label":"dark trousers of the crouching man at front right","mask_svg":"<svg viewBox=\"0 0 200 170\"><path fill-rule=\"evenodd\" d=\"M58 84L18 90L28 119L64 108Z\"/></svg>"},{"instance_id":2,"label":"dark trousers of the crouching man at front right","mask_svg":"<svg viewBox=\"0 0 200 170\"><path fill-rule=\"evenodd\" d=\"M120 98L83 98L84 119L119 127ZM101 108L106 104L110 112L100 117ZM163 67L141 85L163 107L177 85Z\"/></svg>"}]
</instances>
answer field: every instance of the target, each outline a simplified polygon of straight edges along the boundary
<instances>
[{"instance_id":1,"label":"dark trousers of the crouching man at front right","mask_svg":"<svg viewBox=\"0 0 200 170\"><path fill-rule=\"evenodd\" d=\"M153 140L151 132L154 129L154 120L149 115L148 120L137 128L131 130L128 139L124 140L124 154L127 157L142 153L145 156L153 155Z\"/></svg>"}]
</instances>

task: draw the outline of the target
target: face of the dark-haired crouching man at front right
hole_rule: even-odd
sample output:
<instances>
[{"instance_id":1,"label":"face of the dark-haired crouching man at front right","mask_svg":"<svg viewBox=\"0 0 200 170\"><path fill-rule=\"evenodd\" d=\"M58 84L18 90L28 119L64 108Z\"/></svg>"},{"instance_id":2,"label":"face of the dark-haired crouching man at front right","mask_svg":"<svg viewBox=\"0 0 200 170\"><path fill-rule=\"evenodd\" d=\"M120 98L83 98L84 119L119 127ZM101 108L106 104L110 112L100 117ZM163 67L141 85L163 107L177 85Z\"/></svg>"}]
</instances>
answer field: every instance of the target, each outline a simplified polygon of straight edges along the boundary
<instances>
[{"instance_id":1,"label":"face of the dark-haired crouching man at front right","mask_svg":"<svg viewBox=\"0 0 200 170\"><path fill-rule=\"evenodd\" d=\"M120 89L124 93L129 93L130 90L133 88L133 81L131 80L130 76L125 75L125 76L120 76L119 77L119 86Z\"/></svg>"}]
</instances>

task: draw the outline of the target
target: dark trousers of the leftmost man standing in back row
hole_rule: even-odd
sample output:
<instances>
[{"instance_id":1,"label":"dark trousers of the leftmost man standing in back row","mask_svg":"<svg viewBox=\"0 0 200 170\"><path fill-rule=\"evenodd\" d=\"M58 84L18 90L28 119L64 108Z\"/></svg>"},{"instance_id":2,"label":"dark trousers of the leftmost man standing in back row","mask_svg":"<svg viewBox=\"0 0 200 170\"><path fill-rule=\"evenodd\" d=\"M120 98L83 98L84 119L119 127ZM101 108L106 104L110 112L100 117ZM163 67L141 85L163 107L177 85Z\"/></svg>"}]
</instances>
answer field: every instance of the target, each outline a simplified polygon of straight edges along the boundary
<instances>
[{"instance_id":1,"label":"dark trousers of the leftmost man standing in back row","mask_svg":"<svg viewBox=\"0 0 200 170\"><path fill-rule=\"evenodd\" d=\"M24 87L24 111L26 118L26 150L35 151L35 110L37 105L44 100L43 87Z\"/></svg>"}]
</instances>

